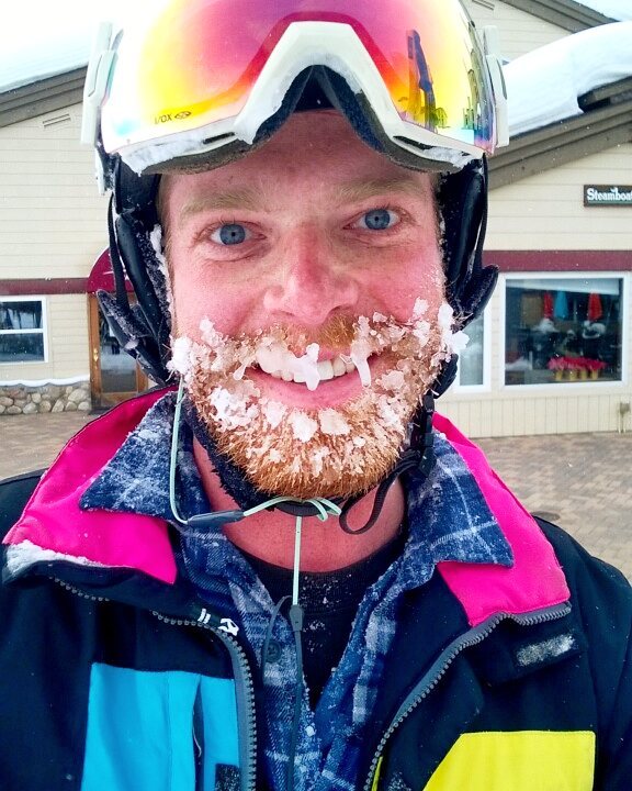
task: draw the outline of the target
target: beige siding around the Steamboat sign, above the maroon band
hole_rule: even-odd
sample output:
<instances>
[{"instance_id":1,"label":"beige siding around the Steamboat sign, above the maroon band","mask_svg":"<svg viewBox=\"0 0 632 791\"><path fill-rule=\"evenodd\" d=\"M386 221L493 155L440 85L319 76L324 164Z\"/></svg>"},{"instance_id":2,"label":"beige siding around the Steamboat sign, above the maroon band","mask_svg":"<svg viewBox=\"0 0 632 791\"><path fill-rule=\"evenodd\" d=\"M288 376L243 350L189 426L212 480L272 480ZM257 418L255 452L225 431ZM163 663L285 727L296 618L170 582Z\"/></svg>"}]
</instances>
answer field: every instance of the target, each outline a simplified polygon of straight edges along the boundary
<instances>
[{"instance_id":1,"label":"beige siding around the Steamboat sign, above the maroon band","mask_svg":"<svg viewBox=\"0 0 632 791\"><path fill-rule=\"evenodd\" d=\"M632 185L632 144L490 193L487 249L632 249L631 207L584 207L584 185Z\"/></svg>"}]
</instances>

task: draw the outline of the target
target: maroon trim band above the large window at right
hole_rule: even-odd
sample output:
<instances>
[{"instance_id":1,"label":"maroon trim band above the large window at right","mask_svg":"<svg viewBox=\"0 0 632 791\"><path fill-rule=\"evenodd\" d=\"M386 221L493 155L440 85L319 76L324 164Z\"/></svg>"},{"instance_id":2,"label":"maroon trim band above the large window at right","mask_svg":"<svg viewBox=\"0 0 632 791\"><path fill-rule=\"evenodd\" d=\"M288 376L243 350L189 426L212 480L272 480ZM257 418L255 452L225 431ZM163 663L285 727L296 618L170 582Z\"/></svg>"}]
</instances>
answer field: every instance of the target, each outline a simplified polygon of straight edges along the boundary
<instances>
[{"instance_id":1,"label":"maroon trim band above the large window at right","mask_svg":"<svg viewBox=\"0 0 632 791\"><path fill-rule=\"evenodd\" d=\"M631 271L632 250L486 250L483 261L501 272Z\"/></svg>"}]
</instances>

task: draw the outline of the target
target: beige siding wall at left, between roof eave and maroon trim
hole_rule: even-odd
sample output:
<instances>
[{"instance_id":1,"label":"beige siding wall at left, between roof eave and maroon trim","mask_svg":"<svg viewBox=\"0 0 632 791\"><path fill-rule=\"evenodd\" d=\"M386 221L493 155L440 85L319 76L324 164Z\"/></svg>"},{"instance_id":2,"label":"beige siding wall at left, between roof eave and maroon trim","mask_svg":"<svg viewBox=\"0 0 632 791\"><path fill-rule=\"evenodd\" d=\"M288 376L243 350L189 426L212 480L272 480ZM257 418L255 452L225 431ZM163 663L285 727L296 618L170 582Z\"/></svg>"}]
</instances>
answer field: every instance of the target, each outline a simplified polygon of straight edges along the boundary
<instances>
[{"instance_id":1,"label":"beige siding wall at left, between roof eave and maroon trim","mask_svg":"<svg viewBox=\"0 0 632 791\"><path fill-rule=\"evenodd\" d=\"M0 279L87 277L105 246L106 199L80 123L76 104L0 129Z\"/></svg>"}]
</instances>

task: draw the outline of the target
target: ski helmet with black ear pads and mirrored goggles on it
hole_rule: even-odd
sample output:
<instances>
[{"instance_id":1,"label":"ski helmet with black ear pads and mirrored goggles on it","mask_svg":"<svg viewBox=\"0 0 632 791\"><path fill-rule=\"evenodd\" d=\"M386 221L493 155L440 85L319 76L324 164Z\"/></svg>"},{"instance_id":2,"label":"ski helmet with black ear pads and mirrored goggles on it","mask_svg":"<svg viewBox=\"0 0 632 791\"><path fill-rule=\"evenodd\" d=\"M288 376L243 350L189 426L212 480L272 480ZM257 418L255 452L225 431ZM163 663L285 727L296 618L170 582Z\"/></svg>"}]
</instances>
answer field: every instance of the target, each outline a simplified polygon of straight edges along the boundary
<instances>
[{"instance_id":1,"label":"ski helmet with black ear pads and mirrored goggles on it","mask_svg":"<svg viewBox=\"0 0 632 791\"><path fill-rule=\"evenodd\" d=\"M229 163L306 109L332 107L393 161L440 174L447 298L460 326L475 317L497 276L482 264L486 155L507 143L495 44L460 0L156 0L135 24L103 26L82 133L112 191L116 294L100 297L151 379L168 381L170 355L160 176ZM454 372L452 360L435 394ZM427 423L417 421L417 433Z\"/></svg>"}]
</instances>

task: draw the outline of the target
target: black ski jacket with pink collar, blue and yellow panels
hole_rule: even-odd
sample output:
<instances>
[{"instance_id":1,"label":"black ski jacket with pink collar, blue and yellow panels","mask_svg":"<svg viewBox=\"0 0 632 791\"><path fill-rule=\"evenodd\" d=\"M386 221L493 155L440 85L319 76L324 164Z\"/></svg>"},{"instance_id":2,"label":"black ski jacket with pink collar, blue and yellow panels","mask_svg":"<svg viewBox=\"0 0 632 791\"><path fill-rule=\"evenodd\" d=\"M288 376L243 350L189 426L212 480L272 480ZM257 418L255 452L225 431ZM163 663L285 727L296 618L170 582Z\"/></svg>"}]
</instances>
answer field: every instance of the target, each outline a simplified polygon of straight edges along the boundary
<instances>
[{"instance_id":1,"label":"black ski jacket with pink collar, blue and yellow panels","mask_svg":"<svg viewBox=\"0 0 632 791\"><path fill-rule=\"evenodd\" d=\"M257 679L239 624L178 576L162 520L79 508L160 394L89 424L42 480L0 484L3 790L261 788ZM515 562L442 562L408 594L357 788L629 791L628 582L538 524L474 445L436 425Z\"/></svg>"}]
</instances>

